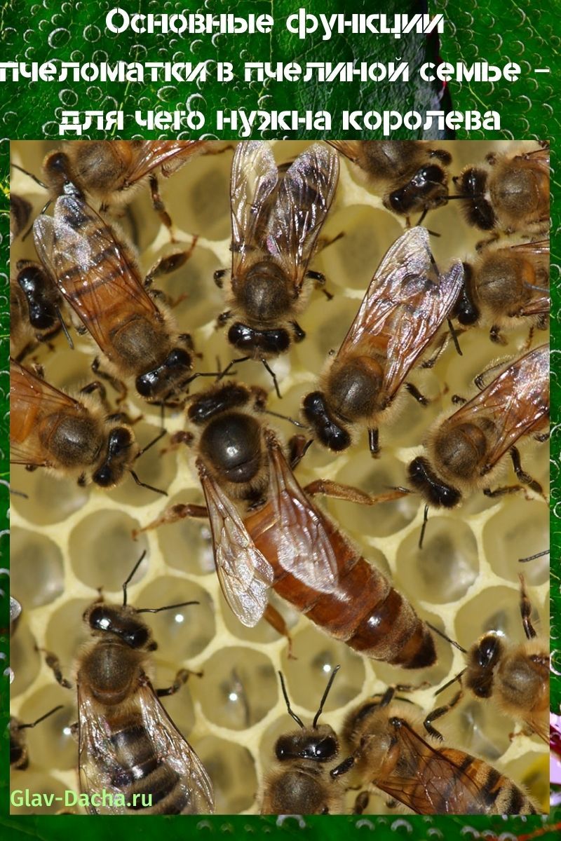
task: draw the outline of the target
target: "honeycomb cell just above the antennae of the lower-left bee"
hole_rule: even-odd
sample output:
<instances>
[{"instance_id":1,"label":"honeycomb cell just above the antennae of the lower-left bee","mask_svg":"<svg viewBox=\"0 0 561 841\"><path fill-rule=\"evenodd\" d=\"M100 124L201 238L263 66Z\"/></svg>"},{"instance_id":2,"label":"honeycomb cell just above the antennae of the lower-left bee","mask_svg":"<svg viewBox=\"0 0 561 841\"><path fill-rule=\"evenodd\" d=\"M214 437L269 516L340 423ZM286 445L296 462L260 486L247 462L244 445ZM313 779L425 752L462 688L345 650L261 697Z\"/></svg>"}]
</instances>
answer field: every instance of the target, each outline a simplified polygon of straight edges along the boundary
<instances>
[{"instance_id":1,"label":"honeycomb cell just above the antennae of the lower-left bee","mask_svg":"<svg viewBox=\"0 0 561 841\"><path fill-rule=\"evenodd\" d=\"M85 516L68 539L70 563L77 578L93 590L103 587L108 592L119 591L148 547L145 534L136 541L132 539L133 530L139 527L138 520L120 510L98 510ZM149 560L142 563L135 582Z\"/></svg>"}]
</instances>

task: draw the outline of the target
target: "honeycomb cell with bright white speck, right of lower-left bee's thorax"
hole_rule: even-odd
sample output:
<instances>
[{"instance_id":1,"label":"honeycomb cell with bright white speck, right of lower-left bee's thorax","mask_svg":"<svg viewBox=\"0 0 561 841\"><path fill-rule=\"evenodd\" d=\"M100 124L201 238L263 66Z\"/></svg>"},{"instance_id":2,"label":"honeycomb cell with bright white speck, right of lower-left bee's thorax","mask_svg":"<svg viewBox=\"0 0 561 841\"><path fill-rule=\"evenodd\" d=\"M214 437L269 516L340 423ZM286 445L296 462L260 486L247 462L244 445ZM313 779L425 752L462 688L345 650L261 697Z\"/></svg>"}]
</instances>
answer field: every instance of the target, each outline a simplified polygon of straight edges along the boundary
<instances>
[{"instance_id":1,"label":"honeycomb cell with bright white speck, right of lower-left bee's thorax","mask_svg":"<svg viewBox=\"0 0 561 841\"><path fill-rule=\"evenodd\" d=\"M215 652L204 664L204 680L193 682L192 691L209 721L230 730L261 721L278 699L271 660L241 646Z\"/></svg>"}]
</instances>

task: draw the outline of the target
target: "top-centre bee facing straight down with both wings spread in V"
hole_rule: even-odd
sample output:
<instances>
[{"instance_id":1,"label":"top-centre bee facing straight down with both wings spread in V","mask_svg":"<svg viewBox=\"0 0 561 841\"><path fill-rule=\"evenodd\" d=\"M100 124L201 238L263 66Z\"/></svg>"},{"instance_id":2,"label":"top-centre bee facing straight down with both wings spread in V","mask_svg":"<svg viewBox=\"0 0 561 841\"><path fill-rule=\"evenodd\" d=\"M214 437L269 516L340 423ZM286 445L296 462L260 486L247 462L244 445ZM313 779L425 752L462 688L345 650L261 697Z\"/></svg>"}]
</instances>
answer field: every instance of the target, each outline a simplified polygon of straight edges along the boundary
<instances>
[{"instance_id":1,"label":"top-centre bee facing straight down with both wings spread in V","mask_svg":"<svg viewBox=\"0 0 561 841\"><path fill-rule=\"evenodd\" d=\"M214 274L219 286L227 279L228 309L219 322L234 320L228 341L269 371L268 358L304 339L296 318L313 280L324 279L308 272L308 264L338 177L336 154L317 143L280 172L267 143L252 140L236 148L230 181L232 267L230 277L225 270Z\"/></svg>"}]
</instances>

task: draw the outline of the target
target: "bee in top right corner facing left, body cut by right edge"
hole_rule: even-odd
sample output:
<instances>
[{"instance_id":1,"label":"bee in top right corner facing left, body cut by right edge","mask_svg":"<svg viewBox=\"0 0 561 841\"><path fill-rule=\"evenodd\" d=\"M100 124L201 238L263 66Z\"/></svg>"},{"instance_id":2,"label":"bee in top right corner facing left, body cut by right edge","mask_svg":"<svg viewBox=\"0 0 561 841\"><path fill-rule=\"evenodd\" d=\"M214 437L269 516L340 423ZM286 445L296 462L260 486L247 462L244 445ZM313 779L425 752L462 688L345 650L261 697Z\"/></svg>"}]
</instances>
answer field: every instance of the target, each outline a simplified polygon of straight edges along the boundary
<instances>
[{"instance_id":1,"label":"bee in top right corner facing left, body cut by right edge","mask_svg":"<svg viewBox=\"0 0 561 841\"><path fill-rule=\"evenodd\" d=\"M549 145L521 155L486 157L453 179L466 219L481 230L539 235L549 227Z\"/></svg>"}]
</instances>

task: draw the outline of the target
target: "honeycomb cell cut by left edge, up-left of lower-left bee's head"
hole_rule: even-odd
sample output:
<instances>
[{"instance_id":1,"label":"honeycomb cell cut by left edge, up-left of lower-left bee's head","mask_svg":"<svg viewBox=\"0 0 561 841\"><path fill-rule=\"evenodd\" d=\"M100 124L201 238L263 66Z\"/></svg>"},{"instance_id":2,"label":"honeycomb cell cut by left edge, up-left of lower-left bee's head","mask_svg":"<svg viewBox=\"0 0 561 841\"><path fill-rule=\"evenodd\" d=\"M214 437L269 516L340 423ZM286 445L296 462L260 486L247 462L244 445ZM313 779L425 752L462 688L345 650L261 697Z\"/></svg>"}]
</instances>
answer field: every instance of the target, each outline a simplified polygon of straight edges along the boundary
<instances>
[{"instance_id":1,"label":"honeycomb cell cut by left edge, up-left of lower-left bee's head","mask_svg":"<svg viewBox=\"0 0 561 841\"><path fill-rule=\"evenodd\" d=\"M45 535L13 528L10 534L10 590L31 609L48 605L64 590L61 549Z\"/></svg>"}]
</instances>

